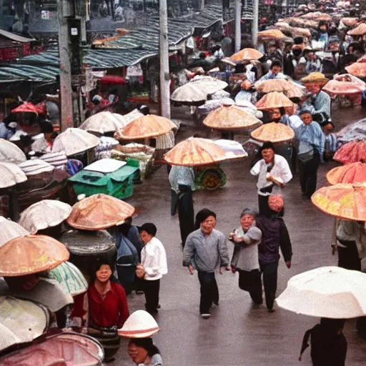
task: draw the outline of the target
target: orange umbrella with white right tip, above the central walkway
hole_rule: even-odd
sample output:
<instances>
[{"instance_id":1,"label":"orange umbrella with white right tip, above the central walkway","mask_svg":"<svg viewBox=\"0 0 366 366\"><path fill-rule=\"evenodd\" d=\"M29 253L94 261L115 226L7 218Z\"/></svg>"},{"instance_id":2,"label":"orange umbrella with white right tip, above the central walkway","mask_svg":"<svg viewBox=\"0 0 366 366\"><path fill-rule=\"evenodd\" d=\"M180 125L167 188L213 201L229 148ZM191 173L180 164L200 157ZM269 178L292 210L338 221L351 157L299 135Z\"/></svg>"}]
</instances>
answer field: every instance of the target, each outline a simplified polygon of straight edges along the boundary
<instances>
[{"instance_id":1,"label":"orange umbrella with white right tip, above the central walkway","mask_svg":"<svg viewBox=\"0 0 366 366\"><path fill-rule=\"evenodd\" d=\"M236 155L234 152L225 152L210 139L189 137L169 150L164 155L164 160L171 165L194 167L246 156L247 154Z\"/></svg>"}]
</instances>

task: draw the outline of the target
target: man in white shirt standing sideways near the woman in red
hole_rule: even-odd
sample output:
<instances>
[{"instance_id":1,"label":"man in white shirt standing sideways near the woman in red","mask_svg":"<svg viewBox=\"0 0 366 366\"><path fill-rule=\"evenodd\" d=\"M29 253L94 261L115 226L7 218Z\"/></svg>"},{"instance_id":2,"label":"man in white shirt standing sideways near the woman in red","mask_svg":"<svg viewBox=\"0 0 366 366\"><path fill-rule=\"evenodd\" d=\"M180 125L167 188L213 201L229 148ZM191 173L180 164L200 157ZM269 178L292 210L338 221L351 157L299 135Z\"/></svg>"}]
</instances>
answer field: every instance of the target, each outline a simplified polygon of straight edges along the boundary
<instances>
[{"instance_id":1,"label":"man in white shirt standing sideways near the woman in red","mask_svg":"<svg viewBox=\"0 0 366 366\"><path fill-rule=\"evenodd\" d=\"M156 314L159 308L160 279L168 273L167 254L164 246L155 237L157 227L151 222L143 224L140 229L140 237L144 243L141 251L141 264L138 269L144 271L145 307L150 314Z\"/></svg>"}]
</instances>

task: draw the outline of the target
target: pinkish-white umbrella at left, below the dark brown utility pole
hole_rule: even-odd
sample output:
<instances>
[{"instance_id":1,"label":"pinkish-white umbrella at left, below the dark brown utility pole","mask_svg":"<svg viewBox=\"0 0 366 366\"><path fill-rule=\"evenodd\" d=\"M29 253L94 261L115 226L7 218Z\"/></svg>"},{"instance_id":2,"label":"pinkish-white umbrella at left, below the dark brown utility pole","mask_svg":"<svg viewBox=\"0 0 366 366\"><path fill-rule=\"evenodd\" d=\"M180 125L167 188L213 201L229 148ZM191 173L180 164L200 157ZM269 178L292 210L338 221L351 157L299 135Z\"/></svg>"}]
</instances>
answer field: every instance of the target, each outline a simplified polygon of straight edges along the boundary
<instances>
[{"instance_id":1,"label":"pinkish-white umbrella at left, below the dark brown utility pole","mask_svg":"<svg viewBox=\"0 0 366 366\"><path fill-rule=\"evenodd\" d=\"M69 157L93 149L99 144L100 140L94 134L82 129L69 128L56 137L52 152L65 152Z\"/></svg>"}]
</instances>

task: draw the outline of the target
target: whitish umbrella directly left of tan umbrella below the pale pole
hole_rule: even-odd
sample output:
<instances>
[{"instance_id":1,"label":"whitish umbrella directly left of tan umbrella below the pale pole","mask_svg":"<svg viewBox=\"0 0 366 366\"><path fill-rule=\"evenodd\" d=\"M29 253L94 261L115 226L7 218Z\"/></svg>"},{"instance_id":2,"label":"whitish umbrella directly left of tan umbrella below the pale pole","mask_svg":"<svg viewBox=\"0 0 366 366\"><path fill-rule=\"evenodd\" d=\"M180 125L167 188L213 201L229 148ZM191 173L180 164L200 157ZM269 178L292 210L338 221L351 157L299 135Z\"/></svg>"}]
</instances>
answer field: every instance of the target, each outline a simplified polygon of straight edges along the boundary
<instances>
[{"instance_id":1,"label":"whitish umbrella directly left of tan umbrella below the pale pole","mask_svg":"<svg viewBox=\"0 0 366 366\"><path fill-rule=\"evenodd\" d=\"M99 112L86 119L79 129L87 132L95 132L97 134L105 134L107 132L116 132L122 129L128 122L121 114L112 112Z\"/></svg>"}]
</instances>

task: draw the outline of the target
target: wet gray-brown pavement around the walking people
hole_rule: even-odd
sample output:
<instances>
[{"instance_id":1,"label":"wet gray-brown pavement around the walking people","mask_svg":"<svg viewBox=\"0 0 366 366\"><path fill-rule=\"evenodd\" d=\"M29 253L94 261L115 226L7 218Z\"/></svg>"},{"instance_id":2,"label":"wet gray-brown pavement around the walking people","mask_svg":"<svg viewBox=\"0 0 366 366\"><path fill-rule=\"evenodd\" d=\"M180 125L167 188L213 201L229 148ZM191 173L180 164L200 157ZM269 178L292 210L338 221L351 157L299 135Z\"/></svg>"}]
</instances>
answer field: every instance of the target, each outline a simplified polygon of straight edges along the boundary
<instances>
[{"instance_id":1,"label":"wet gray-brown pavement around the walking people","mask_svg":"<svg viewBox=\"0 0 366 366\"><path fill-rule=\"evenodd\" d=\"M339 127L361 118L360 112L353 109L333 112L333 116ZM193 126L192 122L184 120L178 138L192 136L197 129L207 132L204 127ZM331 162L320 167L317 187L326 184L325 174L335 165ZM213 209L217 213L217 229L227 235L239 225L239 214L244 207L257 208L257 192L256 179L249 174L248 160L226 162L222 168L228 177L227 184L215 192L194 192L194 210ZM199 282L197 274L192 276L182 267L178 217L170 216L170 188L165 167L135 186L133 197L127 201L138 207L134 223L154 222L157 237L167 250L169 273L161 282L162 309L156 317L161 331L154 336L164 365L312 365L309 350L305 351L302 363L297 357L302 336L319 319L296 315L277 305L273 313L267 312L264 305L253 307L247 292L239 290L237 274L217 274L220 305L212 310L208 320L199 317ZM337 256L332 256L330 249L333 219L322 214L309 200L302 199L298 174L285 188L285 208L294 254L291 269L280 259L277 296L295 274L337 265ZM230 242L228 247L231 254ZM144 295L132 294L128 300L131 312L144 309ZM366 365L366 340L357 335L354 320L347 321L345 336L348 342L346 365ZM116 360L108 365L132 365L127 343L128 340L122 339Z\"/></svg>"}]
</instances>

